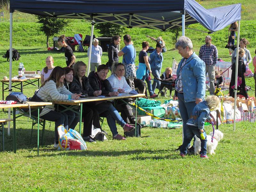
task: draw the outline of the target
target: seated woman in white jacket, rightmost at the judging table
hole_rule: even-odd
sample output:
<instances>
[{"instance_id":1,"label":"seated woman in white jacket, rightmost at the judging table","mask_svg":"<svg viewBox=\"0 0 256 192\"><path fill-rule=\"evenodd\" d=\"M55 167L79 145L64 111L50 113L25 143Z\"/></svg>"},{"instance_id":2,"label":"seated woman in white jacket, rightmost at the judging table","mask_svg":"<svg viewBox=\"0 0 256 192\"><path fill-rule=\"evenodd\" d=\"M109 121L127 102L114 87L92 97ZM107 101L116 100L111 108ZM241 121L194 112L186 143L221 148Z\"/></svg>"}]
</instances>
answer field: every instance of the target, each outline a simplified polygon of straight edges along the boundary
<instances>
[{"instance_id":1,"label":"seated woman in white jacket, rightmost at the judging table","mask_svg":"<svg viewBox=\"0 0 256 192\"><path fill-rule=\"evenodd\" d=\"M124 64L123 63L114 63L112 65L112 73L111 76L108 77L108 81L114 89L114 92L119 93L129 93L131 91L131 87L127 84L124 77ZM126 102L129 102L128 99L124 99ZM135 124L135 117L132 115L132 109L127 104L122 102L121 100L117 100L116 109L118 112L121 112L121 117L125 122L130 121L130 123Z\"/></svg>"}]
</instances>

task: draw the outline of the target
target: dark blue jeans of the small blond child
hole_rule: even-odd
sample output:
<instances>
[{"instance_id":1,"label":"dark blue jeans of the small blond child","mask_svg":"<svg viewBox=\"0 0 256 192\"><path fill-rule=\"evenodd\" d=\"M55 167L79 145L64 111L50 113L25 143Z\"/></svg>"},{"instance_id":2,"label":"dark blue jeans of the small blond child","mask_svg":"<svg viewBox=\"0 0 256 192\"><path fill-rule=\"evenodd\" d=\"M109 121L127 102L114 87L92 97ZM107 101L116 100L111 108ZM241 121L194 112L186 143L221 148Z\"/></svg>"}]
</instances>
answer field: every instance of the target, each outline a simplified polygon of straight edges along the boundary
<instances>
[{"instance_id":1,"label":"dark blue jeans of the small blond child","mask_svg":"<svg viewBox=\"0 0 256 192\"><path fill-rule=\"evenodd\" d=\"M192 138L194 137L194 135L196 135L196 137L198 137L201 140L201 151L200 151L200 155L206 155L207 150L206 150L206 143L207 143L207 138L206 138L206 133L204 132L204 136L205 139L201 139L200 136L201 132L198 129L197 126L193 126L193 125L187 125L187 132L186 134L184 134L184 140L182 143L182 146L180 148L180 152L183 154L187 154L187 149L188 146L190 144L190 141L192 140Z\"/></svg>"}]
</instances>

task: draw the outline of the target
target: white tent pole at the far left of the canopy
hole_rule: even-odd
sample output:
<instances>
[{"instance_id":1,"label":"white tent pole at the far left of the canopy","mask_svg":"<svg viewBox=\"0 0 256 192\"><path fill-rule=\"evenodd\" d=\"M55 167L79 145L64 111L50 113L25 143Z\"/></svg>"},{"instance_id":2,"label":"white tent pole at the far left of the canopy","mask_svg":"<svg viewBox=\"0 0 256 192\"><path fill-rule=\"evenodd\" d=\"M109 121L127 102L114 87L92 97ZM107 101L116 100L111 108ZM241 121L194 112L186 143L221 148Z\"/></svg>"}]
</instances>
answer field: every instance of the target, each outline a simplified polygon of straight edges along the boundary
<instances>
[{"instance_id":1,"label":"white tent pole at the far left of the canopy","mask_svg":"<svg viewBox=\"0 0 256 192\"><path fill-rule=\"evenodd\" d=\"M9 94L12 92L12 10L10 10L10 55L9 55ZM8 109L8 118L11 118L11 108ZM10 122L8 122L8 135L10 136Z\"/></svg>"}]
</instances>

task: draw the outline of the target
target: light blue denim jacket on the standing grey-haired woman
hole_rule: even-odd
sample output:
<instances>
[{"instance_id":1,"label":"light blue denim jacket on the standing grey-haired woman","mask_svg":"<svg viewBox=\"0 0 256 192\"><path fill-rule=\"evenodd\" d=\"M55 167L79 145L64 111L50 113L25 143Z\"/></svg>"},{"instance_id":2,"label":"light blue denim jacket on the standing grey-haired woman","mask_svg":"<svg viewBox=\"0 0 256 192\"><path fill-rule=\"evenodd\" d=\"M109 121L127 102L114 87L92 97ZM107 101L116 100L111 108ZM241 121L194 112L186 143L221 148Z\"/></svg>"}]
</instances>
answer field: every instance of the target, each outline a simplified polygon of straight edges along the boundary
<instances>
[{"instance_id":1,"label":"light blue denim jacket on the standing grey-haired woman","mask_svg":"<svg viewBox=\"0 0 256 192\"><path fill-rule=\"evenodd\" d=\"M180 61L177 68L177 75L184 58ZM205 63L195 52L187 59L181 71L181 81L185 102L196 101L196 98L205 97Z\"/></svg>"}]
</instances>

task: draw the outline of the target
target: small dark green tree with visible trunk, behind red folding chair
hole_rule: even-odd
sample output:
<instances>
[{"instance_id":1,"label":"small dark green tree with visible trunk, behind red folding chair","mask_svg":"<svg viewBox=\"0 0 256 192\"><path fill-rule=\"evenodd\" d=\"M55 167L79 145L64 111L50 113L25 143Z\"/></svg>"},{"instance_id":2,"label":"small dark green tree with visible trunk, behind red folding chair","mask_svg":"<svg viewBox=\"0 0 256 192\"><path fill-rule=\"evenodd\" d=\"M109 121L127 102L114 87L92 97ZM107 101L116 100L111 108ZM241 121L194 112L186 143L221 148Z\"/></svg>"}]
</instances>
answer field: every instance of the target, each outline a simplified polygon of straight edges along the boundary
<instances>
[{"instance_id":1,"label":"small dark green tree with visible trunk, behind red folding chair","mask_svg":"<svg viewBox=\"0 0 256 192\"><path fill-rule=\"evenodd\" d=\"M36 15L38 19L37 23L41 23L40 31L44 32L46 36L46 45L49 47L49 36L58 34L64 27L68 25L67 19L61 19L56 17L46 17Z\"/></svg>"}]
</instances>

